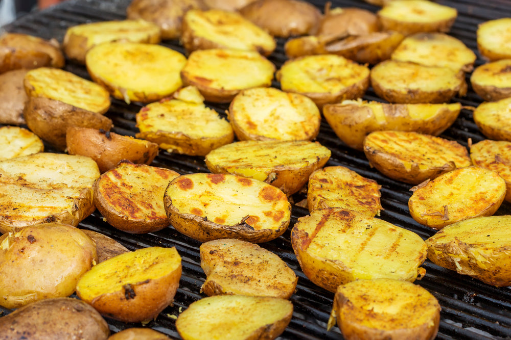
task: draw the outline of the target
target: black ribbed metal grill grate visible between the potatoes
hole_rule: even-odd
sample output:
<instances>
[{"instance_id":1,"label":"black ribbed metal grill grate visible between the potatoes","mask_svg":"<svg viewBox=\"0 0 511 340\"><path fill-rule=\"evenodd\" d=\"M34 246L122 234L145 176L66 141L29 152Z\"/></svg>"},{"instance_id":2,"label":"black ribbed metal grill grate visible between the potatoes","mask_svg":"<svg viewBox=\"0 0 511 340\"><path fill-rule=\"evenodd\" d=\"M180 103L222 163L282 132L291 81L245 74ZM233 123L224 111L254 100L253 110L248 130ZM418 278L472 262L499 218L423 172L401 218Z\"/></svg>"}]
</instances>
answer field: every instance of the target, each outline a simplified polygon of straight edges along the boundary
<instances>
[{"instance_id":1,"label":"black ribbed metal grill grate visible between the potatoes","mask_svg":"<svg viewBox=\"0 0 511 340\"><path fill-rule=\"evenodd\" d=\"M506 0L486 0L484 5L481 5L479 0L439 0L438 2L458 9L458 18L450 34L462 40L476 53L475 32L477 25L489 19L511 16L511 2ZM130 0L68 0L48 10L22 17L8 25L6 30L36 35L45 39L57 38L62 41L65 30L72 25L124 19L129 3ZM324 1L319 0L313 0L311 3L321 9L324 5ZM332 7L360 7L373 12L378 10L378 7L356 0L333 1ZM285 61L283 43L283 39L278 40L278 48L269 58L277 67L280 67ZM163 44L184 53L178 41L166 41ZM483 63L478 53L477 56L476 66ZM68 63L65 69L90 79L83 66ZM274 86L278 87L278 83L274 82ZM378 100L371 89L364 99ZM477 106L481 102L470 85L469 94L466 97L454 100L461 102L464 106ZM211 107L225 117L224 111L227 109L225 105L212 104ZM115 124L114 132L134 136L136 132L135 114L140 108L141 105L138 103L127 105L120 100L113 100L107 116ZM463 145L467 145L469 138L473 142L484 139L474 124L472 113L469 110L462 110L453 126L442 136L457 140ZM382 219L410 229L423 239L433 234L428 227L417 224L408 213L407 201L411 195L409 185L386 178L371 169L364 154L343 145L324 121L321 124L317 140L332 150L332 158L328 162L328 166L349 167L365 177L377 180L382 185L381 201L385 208L381 214ZM51 147L47 149L52 150ZM165 151L161 151L153 165L167 167L179 173L207 172L203 158L169 154ZM304 196L295 194L293 198L295 201L299 201ZM511 206L504 203L498 214L509 214L509 211L511 211ZM298 217L307 214L307 210L294 205L290 228ZM129 249L148 246L175 246L177 248L183 259L183 274L175 303L161 312L158 318L151 321L147 327L179 338L175 330L175 317L179 315L180 310L203 297L199 293L200 286L205 279L200 268L198 253L200 243L183 236L172 227L142 235L124 233L106 224L98 212L85 219L80 227L100 231L120 241ZM300 271L289 237L290 229L282 237L262 244L263 247L281 256L299 277L296 293L291 298L294 305L293 319L280 339L342 338L337 327L330 332L326 331L333 294L311 283ZM511 339L510 287L498 289L440 268L428 260L424 264L424 268L427 270L426 276L422 281L416 281L416 283L432 292L442 305L438 339ZM9 312L6 309L1 311ZM110 319L107 321L113 332L140 326L140 324L126 324Z\"/></svg>"}]
</instances>

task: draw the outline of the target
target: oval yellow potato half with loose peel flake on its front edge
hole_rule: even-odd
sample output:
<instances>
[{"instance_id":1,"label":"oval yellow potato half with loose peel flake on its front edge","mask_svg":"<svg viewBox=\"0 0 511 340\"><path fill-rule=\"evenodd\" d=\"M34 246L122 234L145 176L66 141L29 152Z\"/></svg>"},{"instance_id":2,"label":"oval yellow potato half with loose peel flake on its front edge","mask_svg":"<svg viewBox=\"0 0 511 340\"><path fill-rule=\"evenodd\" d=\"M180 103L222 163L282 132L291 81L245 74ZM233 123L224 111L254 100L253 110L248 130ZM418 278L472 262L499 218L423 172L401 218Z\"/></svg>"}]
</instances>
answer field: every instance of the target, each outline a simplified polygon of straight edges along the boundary
<instances>
[{"instance_id":1,"label":"oval yellow potato half with loose peel flake on its front edge","mask_svg":"<svg viewBox=\"0 0 511 340\"><path fill-rule=\"evenodd\" d=\"M470 166L445 173L414 189L413 219L434 229L472 217L491 216L506 195L506 182L492 170Z\"/></svg>"}]
</instances>

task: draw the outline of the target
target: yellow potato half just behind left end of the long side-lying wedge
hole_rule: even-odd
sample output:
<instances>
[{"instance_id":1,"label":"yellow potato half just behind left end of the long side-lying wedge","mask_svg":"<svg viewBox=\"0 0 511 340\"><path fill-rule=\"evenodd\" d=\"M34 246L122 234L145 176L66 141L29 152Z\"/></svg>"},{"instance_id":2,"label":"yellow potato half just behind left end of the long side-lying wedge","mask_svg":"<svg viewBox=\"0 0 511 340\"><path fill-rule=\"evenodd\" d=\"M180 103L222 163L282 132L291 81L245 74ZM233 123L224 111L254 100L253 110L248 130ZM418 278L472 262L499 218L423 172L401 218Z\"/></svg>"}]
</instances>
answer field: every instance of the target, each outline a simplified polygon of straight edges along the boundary
<instances>
[{"instance_id":1,"label":"yellow potato half just behind left end of the long side-lying wedge","mask_svg":"<svg viewBox=\"0 0 511 340\"><path fill-rule=\"evenodd\" d=\"M335 55L288 60L277 71L286 92L311 98L319 108L324 104L362 97L369 86L369 68Z\"/></svg>"}]
</instances>

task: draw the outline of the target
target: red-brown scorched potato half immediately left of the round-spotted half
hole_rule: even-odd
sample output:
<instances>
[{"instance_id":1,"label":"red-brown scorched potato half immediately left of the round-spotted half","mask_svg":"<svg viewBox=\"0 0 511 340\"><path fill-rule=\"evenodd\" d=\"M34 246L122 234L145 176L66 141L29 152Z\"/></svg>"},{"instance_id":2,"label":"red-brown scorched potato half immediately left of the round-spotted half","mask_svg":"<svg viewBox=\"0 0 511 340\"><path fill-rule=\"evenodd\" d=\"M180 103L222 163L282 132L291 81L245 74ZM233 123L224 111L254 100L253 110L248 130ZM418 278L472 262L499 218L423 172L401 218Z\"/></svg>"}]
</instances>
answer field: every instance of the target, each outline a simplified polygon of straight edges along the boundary
<instances>
[{"instance_id":1,"label":"red-brown scorched potato half immediately left of the round-spotted half","mask_svg":"<svg viewBox=\"0 0 511 340\"><path fill-rule=\"evenodd\" d=\"M108 223L130 233L146 233L170 223L163 205L173 170L121 162L94 184L94 204Z\"/></svg>"}]
</instances>

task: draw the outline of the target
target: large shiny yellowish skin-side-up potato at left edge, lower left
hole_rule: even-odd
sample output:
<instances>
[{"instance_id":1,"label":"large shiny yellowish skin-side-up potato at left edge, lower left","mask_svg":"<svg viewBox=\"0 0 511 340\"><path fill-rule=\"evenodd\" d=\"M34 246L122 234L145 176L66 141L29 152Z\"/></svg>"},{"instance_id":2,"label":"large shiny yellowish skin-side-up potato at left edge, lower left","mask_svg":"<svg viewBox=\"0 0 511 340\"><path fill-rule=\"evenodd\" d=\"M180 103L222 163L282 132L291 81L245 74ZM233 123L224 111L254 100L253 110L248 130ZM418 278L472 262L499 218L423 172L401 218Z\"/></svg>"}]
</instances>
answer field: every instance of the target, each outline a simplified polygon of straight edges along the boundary
<instances>
[{"instance_id":1,"label":"large shiny yellowish skin-side-up potato at left edge, lower left","mask_svg":"<svg viewBox=\"0 0 511 340\"><path fill-rule=\"evenodd\" d=\"M66 297L98 256L80 229L42 223L0 237L0 305L19 308L31 302Z\"/></svg>"}]
</instances>

